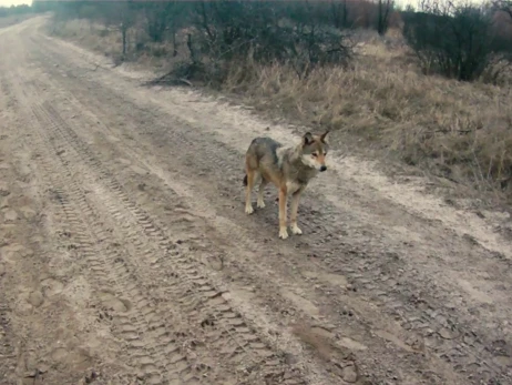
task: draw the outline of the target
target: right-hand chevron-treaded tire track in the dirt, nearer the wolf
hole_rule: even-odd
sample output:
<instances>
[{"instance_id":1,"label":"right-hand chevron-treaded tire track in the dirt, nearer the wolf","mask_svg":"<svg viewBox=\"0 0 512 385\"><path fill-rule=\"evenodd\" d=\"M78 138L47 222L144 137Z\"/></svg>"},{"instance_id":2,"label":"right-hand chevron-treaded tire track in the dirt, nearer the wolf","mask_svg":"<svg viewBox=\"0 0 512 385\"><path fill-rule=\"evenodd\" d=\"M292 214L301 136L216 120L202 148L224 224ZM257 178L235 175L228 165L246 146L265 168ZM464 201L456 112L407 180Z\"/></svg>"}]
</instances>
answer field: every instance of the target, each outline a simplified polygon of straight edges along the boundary
<instances>
[{"instance_id":1,"label":"right-hand chevron-treaded tire track in the dirt, nearer the wolf","mask_svg":"<svg viewBox=\"0 0 512 385\"><path fill-rule=\"evenodd\" d=\"M130 243L134 244L135 250L141 253L141 255L154 257L160 254L156 260L151 261L152 269L154 271L163 271L164 267L165 270L172 269L171 275L174 277L180 276L183 281L181 282L182 287L180 287L180 285L175 285L171 292L174 292L173 297L177 298L186 314L196 314L192 317L192 320L188 318L188 322L192 322L197 326L202 324L211 327L217 326L217 333L214 331L211 332L214 337L211 344L207 345L207 351L222 352L225 348L223 340L234 340L234 345L227 347L231 352L225 358L240 362L247 361L249 366L274 366L269 365L268 362L264 363L262 361L262 358L264 361L269 358L269 361L272 361L272 358L277 359L274 353L272 353L272 351L262 343L254 331L250 331L247 327L247 324L242 316L229 307L227 301L222 297L222 293L208 283L208 278L201 273L197 273L196 266L191 264L190 261L193 260L193 257L187 255L190 254L185 249L187 242L182 242L180 246L171 242L162 230L162 226L155 224L155 222L146 213L130 201L119 182L110 175L100 161L94 159L94 155L85 145L83 145L80 139L75 136L74 132L66 129L65 122L60 119L58 113L49 105L47 107L47 111L49 112L49 124L51 124L50 122L53 122L53 124L57 124L58 130L63 136L68 135L68 138L65 138L66 142L72 143L79 156L81 153L85 154L83 160L90 161L90 165L96 169L96 172L101 175L101 179L103 179L103 183L105 183L105 185L114 192L121 202L125 203L125 207L127 207L131 212L133 216L132 219L116 207L112 201L105 202L105 207L110 211L110 215L115 219L117 225L124 226L126 231L131 227L135 227L135 225L139 225L139 229L142 230L142 233L126 234L127 237L124 240L129 240ZM142 243L139 243L140 240L144 237L145 240ZM154 244L156 242L161 250L156 250L152 246L152 243ZM116 261L120 261L119 255ZM176 265L170 265L168 261L172 261L173 264L176 264L181 269L176 269ZM140 269L140 266L134 267L137 270ZM147 277L147 280L150 277ZM202 295L197 295L194 292L199 292ZM162 325L149 326L150 330L163 327ZM249 353L249 349L252 353ZM234 358L228 357L229 355L249 355L249 357L240 356ZM287 383L293 384L295 382L290 378Z\"/></svg>"}]
</instances>

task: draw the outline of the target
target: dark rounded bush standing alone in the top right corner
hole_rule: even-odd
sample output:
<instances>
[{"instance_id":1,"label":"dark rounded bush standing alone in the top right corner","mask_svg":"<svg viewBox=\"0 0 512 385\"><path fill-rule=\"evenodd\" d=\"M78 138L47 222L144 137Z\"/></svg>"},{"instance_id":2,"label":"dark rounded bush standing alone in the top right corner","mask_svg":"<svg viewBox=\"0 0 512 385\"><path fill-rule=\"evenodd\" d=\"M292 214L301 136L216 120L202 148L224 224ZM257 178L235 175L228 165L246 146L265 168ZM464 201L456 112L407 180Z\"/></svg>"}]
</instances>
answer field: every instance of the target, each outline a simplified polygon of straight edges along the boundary
<instances>
[{"instance_id":1,"label":"dark rounded bush standing alone in the top right corner","mask_svg":"<svg viewBox=\"0 0 512 385\"><path fill-rule=\"evenodd\" d=\"M402 18L403 36L426 73L473 81L510 60L512 40L496 33L490 7L423 3L421 12Z\"/></svg>"}]
</instances>

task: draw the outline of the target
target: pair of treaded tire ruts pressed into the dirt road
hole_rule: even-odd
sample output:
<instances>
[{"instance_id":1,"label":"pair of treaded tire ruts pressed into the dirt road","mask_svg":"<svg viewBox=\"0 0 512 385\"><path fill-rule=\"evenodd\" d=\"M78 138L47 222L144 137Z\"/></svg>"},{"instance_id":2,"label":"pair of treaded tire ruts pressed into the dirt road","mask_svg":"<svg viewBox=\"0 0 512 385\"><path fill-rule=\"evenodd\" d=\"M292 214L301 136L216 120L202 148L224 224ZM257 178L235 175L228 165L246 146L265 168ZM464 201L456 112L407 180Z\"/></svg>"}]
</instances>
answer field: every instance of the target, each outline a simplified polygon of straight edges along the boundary
<instances>
[{"instance_id":1,"label":"pair of treaded tire ruts pressed into the dirt road","mask_svg":"<svg viewBox=\"0 0 512 385\"><path fill-rule=\"evenodd\" d=\"M25 102L30 103L29 100ZM187 362L185 354L180 353L183 344L186 343L186 336L182 335L182 341L175 336L175 333L173 336L173 328L168 325L176 322L195 325L197 328L202 326L209 328L203 335L204 341L194 343L196 347L194 354L208 356L206 352L218 353L223 362L222 366L228 369L226 373L236 372L237 381L244 377L244 381L255 381L254 374L250 374L253 372L256 375L263 375L270 383L276 381L283 384L304 383L299 374L294 374L293 369L283 367L279 356L268 347L240 314L229 306L228 301L222 296L222 292L198 272L193 259L186 253L186 245L177 247L164 234L161 225L155 224L145 212L131 202L121 184L80 142L57 111L51 105L37 103L33 103L31 109L35 119L33 125L45 128L51 136L40 134L41 142L44 143L43 148L50 152L53 151L60 161L53 165L48 165L48 163L44 165L51 184L54 186L54 196L60 202L65 220L72 226L72 232L78 234L76 246L82 251L85 264L90 266L94 280L101 283L99 287L112 286L113 294L111 295L116 298L114 302L116 301L117 307L126 308L125 312L116 314L115 330L129 345L131 361L142 371L143 377L151 384L163 384L166 381L199 383L202 376L213 369L213 363L215 363L213 357L205 359L207 364L203 364L201 359L191 363ZM63 146L58 144L63 144ZM71 155L68 154L70 151L66 145L70 144L75 152L73 155L82 158L89 170L95 170L98 179L102 181L104 188L110 190L113 199L105 199L104 207L107 209L109 216L120 226L119 240L131 244L141 256L149 257L151 274L144 273L147 269L142 263L134 263L136 254L123 257L123 254L127 253L126 249L120 251L98 246L107 243L112 232L105 229L104 219L99 219L98 207L91 206L83 189L73 178L72 163L76 162L76 158L70 158ZM63 151L63 149L66 150ZM90 178L86 172L82 176ZM94 182L91 181L91 183ZM121 202L122 206L120 207L120 204L114 201ZM164 269L171 273L164 274ZM177 313L173 312L172 306L163 307L162 302L155 304L158 297L147 297L144 295L145 292L139 288L149 282L154 282L155 285L164 284L164 281L170 278L174 278L174 283L167 283L164 286L166 287L164 296L167 304L180 304L181 312ZM145 288L151 290L151 287ZM109 296L109 292L105 293ZM126 293L130 295L130 301L122 300ZM185 314L186 320L181 318L180 313ZM168 314L174 314L177 320L171 323L165 322ZM204 347L197 348L199 345ZM245 371L245 374L236 369L240 363L243 367L249 369ZM172 366L176 368L174 372L168 369ZM174 378L176 375L178 378ZM222 381L226 384L235 383L235 377Z\"/></svg>"}]
</instances>

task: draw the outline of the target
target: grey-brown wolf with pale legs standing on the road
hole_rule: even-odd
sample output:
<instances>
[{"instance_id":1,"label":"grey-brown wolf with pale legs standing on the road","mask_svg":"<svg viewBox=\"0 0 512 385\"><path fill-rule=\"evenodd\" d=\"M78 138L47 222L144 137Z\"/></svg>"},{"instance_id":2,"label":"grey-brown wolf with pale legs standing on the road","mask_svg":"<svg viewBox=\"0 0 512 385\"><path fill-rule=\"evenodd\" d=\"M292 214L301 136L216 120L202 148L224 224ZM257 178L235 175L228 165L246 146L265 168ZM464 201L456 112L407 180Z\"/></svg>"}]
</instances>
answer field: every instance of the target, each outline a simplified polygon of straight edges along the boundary
<instances>
[{"instance_id":1,"label":"grey-brown wolf with pale legs standing on the road","mask_svg":"<svg viewBox=\"0 0 512 385\"><path fill-rule=\"evenodd\" d=\"M255 138L245 155L245 212L254 212L250 202L255 183L259 180L257 207L265 207L263 193L268 183L279 190L279 239L288 237L286 203L291 195L290 230L301 234L297 225L297 210L300 194L318 172L327 170L326 156L329 151L327 140L329 131L321 135L306 132L297 145L285 146L268 136Z\"/></svg>"}]
</instances>

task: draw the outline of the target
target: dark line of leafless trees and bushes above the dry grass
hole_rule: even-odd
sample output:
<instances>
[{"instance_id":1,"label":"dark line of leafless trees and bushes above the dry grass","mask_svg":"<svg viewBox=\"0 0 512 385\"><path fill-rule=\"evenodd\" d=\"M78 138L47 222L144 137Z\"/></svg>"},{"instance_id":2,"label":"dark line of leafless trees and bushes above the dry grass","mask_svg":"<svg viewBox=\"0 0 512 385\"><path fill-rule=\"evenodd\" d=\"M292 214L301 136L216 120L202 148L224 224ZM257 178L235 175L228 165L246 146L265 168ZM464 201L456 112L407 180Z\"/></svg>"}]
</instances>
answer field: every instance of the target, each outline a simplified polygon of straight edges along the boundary
<instances>
[{"instance_id":1,"label":"dark line of leafless trees and bushes above the dry grass","mask_svg":"<svg viewBox=\"0 0 512 385\"><path fill-rule=\"evenodd\" d=\"M512 62L512 0L423 0L418 10L393 0L34 0L32 8L114 29L123 57L144 49L144 42L127 43L129 32L142 29L149 41L171 44L170 55L186 52L178 67L185 78L223 81L232 65L247 61L288 64L305 78L319 67L347 65L356 29L386 36L399 28L426 73L461 81L496 82Z\"/></svg>"}]
</instances>

